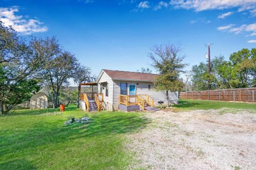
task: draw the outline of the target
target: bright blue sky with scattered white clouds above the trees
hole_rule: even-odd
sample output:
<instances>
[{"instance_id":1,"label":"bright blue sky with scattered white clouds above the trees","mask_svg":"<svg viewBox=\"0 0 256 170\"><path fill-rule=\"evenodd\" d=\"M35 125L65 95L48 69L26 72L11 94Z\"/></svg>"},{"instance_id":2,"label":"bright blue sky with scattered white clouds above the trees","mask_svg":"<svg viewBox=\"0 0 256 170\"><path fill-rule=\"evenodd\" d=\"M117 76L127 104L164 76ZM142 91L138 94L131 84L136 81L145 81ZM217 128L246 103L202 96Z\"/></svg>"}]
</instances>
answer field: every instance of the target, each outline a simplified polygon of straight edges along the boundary
<instances>
[{"instance_id":1,"label":"bright blue sky with scattered white clouds above the trees","mask_svg":"<svg viewBox=\"0 0 256 170\"><path fill-rule=\"evenodd\" d=\"M180 42L185 62L226 58L256 47L255 0L0 0L0 20L23 36L56 36L60 44L91 67L136 71L150 67L154 45Z\"/></svg>"}]
</instances>

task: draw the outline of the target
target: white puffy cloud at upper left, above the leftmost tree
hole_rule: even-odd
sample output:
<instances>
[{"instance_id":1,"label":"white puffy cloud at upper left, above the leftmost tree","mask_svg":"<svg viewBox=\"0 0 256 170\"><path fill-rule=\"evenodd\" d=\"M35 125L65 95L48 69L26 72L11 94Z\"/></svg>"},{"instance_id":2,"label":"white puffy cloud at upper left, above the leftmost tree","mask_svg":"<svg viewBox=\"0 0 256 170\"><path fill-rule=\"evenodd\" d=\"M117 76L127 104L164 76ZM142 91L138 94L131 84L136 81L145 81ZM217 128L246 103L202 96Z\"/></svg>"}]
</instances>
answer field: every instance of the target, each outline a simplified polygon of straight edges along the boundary
<instances>
[{"instance_id":1,"label":"white puffy cloud at upper left, above the leftmost tree","mask_svg":"<svg viewBox=\"0 0 256 170\"><path fill-rule=\"evenodd\" d=\"M15 15L18 12L17 7L0 8L0 20L5 26L12 26L14 30L23 34L32 34L37 32L46 32L48 28L37 19L24 19L22 15Z\"/></svg>"}]
</instances>

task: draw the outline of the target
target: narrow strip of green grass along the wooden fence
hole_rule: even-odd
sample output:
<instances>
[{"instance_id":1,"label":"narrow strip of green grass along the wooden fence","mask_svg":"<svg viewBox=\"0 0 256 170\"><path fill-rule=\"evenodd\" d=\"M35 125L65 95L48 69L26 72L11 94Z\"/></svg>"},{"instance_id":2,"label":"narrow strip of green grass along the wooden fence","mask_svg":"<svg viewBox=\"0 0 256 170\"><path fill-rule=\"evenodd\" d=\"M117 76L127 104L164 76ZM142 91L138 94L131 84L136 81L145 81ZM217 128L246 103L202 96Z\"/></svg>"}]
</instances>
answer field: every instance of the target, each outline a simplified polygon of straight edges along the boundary
<instances>
[{"instance_id":1,"label":"narrow strip of green grass along the wooden fence","mask_svg":"<svg viewBox=\"0 0 256 170\"><path fill-rule=\"evenodd\" d=\"M220 102L206 100L180 99L179 105L174 106L176 111L186 110L208 110L208 109L249 109L256 113L256 104L237 103L237 102Z\"/></svg>"}]
</instances>

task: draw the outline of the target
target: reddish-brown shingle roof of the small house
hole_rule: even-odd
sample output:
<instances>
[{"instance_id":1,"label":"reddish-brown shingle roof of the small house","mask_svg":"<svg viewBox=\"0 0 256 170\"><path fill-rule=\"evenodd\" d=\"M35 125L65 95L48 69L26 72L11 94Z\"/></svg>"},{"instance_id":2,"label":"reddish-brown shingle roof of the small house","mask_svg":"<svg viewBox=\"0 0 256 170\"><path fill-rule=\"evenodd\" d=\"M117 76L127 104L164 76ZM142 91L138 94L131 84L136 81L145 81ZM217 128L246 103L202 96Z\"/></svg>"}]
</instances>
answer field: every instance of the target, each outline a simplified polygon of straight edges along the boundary
<instances>
[{"instance_id":1,"label":"reddish-brown shingle roof of the small house","mask_svg":"<svg viewBox=\"0 0 256 170\"><path fill-rule=\"evenodd\" d=\"M153 82L157 74L148 74L142 72L119 71L102 69L113 80L127 80L127 81L146 81Z\"/></svg>"}]
</instances>

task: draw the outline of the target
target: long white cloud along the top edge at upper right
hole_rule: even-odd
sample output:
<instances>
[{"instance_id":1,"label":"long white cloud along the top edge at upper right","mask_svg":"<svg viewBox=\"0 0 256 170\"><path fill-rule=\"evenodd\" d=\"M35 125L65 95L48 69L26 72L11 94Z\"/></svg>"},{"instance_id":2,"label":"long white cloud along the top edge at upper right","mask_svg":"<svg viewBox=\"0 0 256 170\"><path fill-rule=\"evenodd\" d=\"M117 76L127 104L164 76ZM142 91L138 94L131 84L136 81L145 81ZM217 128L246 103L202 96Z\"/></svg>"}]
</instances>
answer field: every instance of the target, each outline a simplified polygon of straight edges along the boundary
<instances>
[{"instance_id":1,"label":"long white cloud along the top edge at upper right","mask_svg":"<svg viewBox=\"0 0 256 170\"><path fill-rule=\"evenodd\" d=\"M196 11L239 8L238 11L256 9L255 0L171 0L175 8L194 9Z\"/></svg>"}]
</instances>

